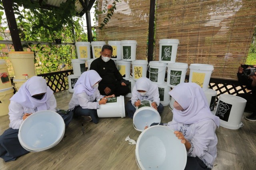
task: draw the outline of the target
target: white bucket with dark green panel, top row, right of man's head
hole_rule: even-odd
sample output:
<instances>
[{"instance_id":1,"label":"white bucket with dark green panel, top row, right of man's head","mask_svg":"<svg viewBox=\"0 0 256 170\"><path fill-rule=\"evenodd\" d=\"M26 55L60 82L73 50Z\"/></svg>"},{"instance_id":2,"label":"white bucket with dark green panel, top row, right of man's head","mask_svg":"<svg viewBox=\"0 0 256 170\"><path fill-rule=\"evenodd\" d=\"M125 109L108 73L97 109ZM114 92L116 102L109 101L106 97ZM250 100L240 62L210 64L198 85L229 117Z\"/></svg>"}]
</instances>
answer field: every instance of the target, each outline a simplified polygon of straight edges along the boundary
<instances>
[{"instance_id":1,"label":"white bucket with dark green panel, top row, right of man's head","mask_svg":"<svg viewBox=\"0 0 256 170\"><path fill-rule=\"evenodd\" d=\"M136 47L137 47L137 41L135 41L135 40L121 41L122 60L135 61L136 60Z\"/></svg>"}]
</instances>

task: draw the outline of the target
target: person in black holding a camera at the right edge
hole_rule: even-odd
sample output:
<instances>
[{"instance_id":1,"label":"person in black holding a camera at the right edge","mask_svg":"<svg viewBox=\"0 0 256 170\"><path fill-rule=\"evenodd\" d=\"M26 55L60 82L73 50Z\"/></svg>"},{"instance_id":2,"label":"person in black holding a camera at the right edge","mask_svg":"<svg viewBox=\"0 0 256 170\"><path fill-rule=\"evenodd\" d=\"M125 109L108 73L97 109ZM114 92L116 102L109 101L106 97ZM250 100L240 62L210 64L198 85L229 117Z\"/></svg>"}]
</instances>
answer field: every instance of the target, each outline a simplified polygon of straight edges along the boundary
<instances>
[{"instance_id":1,"label":"person in black holding a camera at the right edge","mask_svg":"<svg viewBox=\"0 0 256 170\"><path fill-rule=\"evenodd\" d=\"M246 68L256 68L256 65L249 66L245 64L241 64L238 68L238 82L241 85L246 86L247 89L252 90L252 94L242 93L238 94L237 96L242 97L247 100L245 111L251 112L251 115L248 115L245 117L246 120L249 121L256 121L256 72L251 71L252 75L248 74L247 71L250 72L250 70L246 70ZM245 72L246 71L246 72Z\"/></svg>"}]
</instances>

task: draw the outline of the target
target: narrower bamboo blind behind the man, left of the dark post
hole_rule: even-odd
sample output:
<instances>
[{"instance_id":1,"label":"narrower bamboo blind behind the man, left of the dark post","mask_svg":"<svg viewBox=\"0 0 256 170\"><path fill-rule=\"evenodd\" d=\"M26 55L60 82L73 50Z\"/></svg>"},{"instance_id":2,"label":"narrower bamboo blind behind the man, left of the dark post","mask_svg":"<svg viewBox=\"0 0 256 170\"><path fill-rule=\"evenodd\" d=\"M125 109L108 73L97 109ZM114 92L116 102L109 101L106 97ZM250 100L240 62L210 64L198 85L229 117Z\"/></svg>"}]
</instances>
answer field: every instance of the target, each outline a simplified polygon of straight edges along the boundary
<instances>
[{"instance_id":1,"label":"narrower bamboo blind behind the man, left of the dark post","mask_svg":"<svg viewBox=\"0 0 256 170\"><path fill-rule=\"evenodd\" d=\"M107 10L113 0L98 0L97 9ZM136 40L136 59L147 59L149 0L120 0L116 10L102 30L96 30L97 41ZM98 15L98 25L106 18L107 12Z\"/></svg>"}]
</instances>

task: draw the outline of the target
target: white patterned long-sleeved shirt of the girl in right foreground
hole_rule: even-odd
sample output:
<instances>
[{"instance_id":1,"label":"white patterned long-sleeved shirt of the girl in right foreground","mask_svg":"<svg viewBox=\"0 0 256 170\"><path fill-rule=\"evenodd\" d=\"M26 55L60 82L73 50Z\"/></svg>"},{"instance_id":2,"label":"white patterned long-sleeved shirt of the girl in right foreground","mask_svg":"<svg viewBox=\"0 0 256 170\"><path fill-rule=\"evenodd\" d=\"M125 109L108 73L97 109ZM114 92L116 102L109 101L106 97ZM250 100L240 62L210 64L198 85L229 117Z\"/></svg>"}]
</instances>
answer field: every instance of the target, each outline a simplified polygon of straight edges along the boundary
<instances>
[{"instance_id":1,"label":"white patterned long-sleeved shirt of the girl in right foreground","mask_svg":"<svg viewBox=\"0 0 256 170\"><path fill-rule=\"evenodd\" d=\"M212 168L217 156L218 139L215 133L216 124L212 119L184 125L172 120L167 125L174 131L180 131L191 143L187 155L200 158L208 168Z\"/></svg>"}]
</instances>

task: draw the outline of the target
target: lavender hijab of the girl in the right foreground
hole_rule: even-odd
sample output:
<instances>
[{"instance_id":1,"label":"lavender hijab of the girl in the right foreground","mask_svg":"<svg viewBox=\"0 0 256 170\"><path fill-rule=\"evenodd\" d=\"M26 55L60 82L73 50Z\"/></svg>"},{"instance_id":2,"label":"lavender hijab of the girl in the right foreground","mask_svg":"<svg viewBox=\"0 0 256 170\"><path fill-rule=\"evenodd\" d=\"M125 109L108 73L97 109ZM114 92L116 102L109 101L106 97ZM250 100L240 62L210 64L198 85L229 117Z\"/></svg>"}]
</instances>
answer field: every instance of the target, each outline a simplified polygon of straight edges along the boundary
<instances>
[{"instance_id":1,"label":"lavender hijab of the girl in the right foreground","mask_svg":"<svg viewBox=\"0 0 256 170\"><path fill-rule=\"evenodd\" d=\"M220 118L213 115L208 106L204 91L196 83L180 83L169 94L184 109L173 109L173 119L176 122L189 125L205 119L212 119L219 127Z\"/></svg>"}]
</instances>

